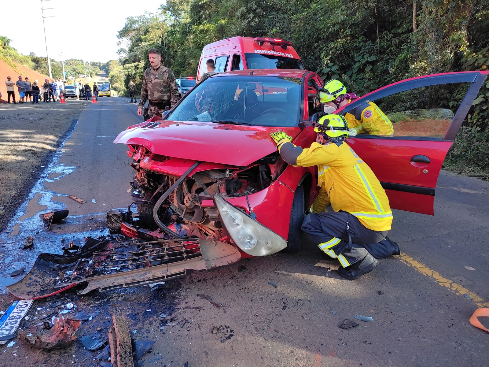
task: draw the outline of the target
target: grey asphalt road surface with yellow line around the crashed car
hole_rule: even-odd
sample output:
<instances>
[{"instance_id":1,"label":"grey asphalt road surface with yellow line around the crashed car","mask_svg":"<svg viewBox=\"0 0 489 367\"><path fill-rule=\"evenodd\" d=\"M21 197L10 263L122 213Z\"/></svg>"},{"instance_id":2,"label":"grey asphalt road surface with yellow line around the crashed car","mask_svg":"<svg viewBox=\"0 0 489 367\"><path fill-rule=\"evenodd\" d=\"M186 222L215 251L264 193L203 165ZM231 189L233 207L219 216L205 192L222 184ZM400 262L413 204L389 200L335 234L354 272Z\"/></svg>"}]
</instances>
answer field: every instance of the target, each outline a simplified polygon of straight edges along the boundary
<instances>
[{"instance_id":1,"label":"grey asphalt road surface with yellow line around the crashed car","mask_svg":"<svg viewBox=\"0 0 489 367\"><path fill-rule=\"evenodd\" d=\"M9 233L0 236L6 244L0 293L22 276L6 276L12 266L29 268L39 252L60 253L60 238L107 233L106 211L131 201L126 148L112 140L138 121L136 105L123 98L99 98L83 111ZM86 203L74 202L70 194ZM75 299L86 312L101 311L82 324L80 336L103 338L109 322L104 318L115 313L128 316L134 339L156 341L140 366L187 361L189 367L485 366L489 335L468 319L478 306L489 307L488 194L487 182L442 172L435 216L395 211L389 237L402 254L381 260L375 271L355 281L341 279L337 263L306 242L300 254L241 260L171 280L156 291L144 287L63 297ZM49 232L40 230L39 212L54 207L69 209L67 221ZM35 237L34 249L18 250L28 235ZM166 317L159 317L162 312ZM338 327L355 315L374 321ZM20 341L3 350L8 353L0 366L97 364L95 354L79 342L35 357Z\"/></svg>"}]
</instances>

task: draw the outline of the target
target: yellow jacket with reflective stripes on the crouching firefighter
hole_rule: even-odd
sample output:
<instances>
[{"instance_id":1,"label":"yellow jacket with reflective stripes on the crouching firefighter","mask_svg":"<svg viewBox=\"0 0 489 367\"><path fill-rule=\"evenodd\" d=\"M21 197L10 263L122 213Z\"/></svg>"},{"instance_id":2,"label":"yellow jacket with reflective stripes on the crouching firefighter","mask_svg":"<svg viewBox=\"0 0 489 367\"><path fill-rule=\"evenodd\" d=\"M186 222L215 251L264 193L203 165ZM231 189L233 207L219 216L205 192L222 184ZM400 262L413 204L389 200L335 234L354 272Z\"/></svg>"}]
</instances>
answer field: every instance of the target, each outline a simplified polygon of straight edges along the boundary
<instances>
[{"instance_id":1,"label":"yellow jacket with reflective stripes on the crouching firefighter","mask_svg":"<svg viewBox=\"0 0 489 367\"><path fill-rule=\"evenodd\" d=\"M286 153L291 146L292 143L284 143L279 152L286 147ZM287 161L284 155L282 157ZM315 213L323 211L331 202L334 211L344 210L355 215L368 229L391 229L392 210L385 190L370 167L346 142L339 146L314 142L311 147L302 149L295 162L289 163L302 167L317 165L320 190L312 205Z\"/></svg>"}]
</instances>

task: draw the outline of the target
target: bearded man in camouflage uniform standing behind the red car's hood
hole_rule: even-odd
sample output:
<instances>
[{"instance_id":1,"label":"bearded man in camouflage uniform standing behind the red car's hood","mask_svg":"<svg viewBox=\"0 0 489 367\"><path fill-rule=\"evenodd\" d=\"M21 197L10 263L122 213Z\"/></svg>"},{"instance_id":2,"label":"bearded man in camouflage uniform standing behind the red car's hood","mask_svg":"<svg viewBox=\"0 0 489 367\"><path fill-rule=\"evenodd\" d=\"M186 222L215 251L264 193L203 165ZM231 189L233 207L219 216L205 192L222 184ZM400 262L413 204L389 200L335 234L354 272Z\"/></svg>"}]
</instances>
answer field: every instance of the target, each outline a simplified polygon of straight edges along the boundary
<instances>
[{"instance_id":1,"label":"bearded man in camouflage uniform standing behind the red car's hood","mask_svg":"<svg viewBox=\"0 0 489 367\"><path fill-rule=\"evenodd\" d=\"M143 106L149 97L148 115L162 116L164 111L172 108L178 101L178 87L172 70L161 64L161 54L156 48L148 52L151 68L143 74L141 98L137 106L137 115L143 113Z\"/></svg>"}]
</instances>

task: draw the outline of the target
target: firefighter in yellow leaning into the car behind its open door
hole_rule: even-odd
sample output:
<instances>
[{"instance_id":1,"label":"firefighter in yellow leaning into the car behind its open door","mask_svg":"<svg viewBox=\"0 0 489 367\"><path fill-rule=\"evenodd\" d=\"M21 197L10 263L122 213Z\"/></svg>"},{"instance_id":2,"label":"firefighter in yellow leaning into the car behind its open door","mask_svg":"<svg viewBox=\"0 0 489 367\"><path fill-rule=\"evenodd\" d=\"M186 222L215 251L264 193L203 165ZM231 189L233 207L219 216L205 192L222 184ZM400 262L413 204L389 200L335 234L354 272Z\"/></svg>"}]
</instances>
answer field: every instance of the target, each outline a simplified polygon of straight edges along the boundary
<instances>
[{"instance_id":1,"label":"firefighter in yellow leaning into the car behind its open door","mask_svg":"<svg viewBox=\"0 0 489 367\"><path fill-rule=\"evenodd\" d=\"M331 114L358 98L355 93L347 93L343 83L337 80L328 81L318 90L318 101L323 103L323 111ZM354 129L356 134L394 135L392 122L374 102L365 102L355 109L347 112L345 118L348 127Z\"/></svg>"}]
</instances>

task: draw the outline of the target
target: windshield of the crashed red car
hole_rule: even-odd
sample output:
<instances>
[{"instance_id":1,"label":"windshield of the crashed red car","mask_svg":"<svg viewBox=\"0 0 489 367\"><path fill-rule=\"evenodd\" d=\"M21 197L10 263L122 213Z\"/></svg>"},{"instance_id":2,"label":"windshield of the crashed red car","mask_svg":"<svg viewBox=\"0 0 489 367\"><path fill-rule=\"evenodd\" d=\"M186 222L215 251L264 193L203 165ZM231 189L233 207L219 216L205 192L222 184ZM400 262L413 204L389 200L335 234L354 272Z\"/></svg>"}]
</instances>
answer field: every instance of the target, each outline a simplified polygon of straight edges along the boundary
<instances>
[{"instance_id":1,"label":"windshield of the crashed red car","mask_svg":"<svg viewBox=\"0 0 489 367\"><path fill-rule=\"evenodd\" d=\"M238 125L297 126L302 80L279 76L208 78L165 119Z\"/></svg>"}]
</instances>

